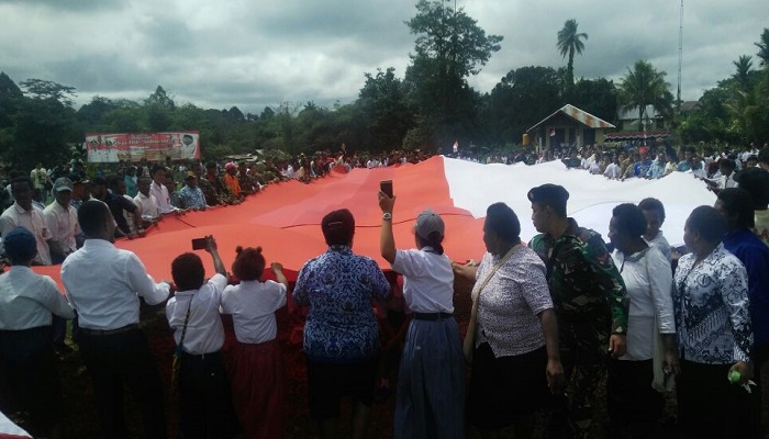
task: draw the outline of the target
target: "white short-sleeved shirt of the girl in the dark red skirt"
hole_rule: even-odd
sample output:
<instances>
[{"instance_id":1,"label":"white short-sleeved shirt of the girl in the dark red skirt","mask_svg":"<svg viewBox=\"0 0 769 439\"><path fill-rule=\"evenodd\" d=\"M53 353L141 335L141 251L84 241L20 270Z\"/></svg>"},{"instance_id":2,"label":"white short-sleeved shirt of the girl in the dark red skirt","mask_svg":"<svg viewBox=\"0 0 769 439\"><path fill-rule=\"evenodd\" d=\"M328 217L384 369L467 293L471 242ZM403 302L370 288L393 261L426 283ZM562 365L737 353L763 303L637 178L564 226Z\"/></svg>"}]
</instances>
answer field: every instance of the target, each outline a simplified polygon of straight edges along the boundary
<instances>
[{"instance_id":1,"label":"white short-sleeved shirt of the girl in the dark red skirt","mask_svg":"<svg viewBox=\"0 0 769 439\"><path fill-rule=\"evenodd\" d=\"M222 314L232 314L235 338L243 344L275 339L275 312L286 306L286 285L275 281L241 281L224 289Z\"/></svg>"}]
</instances>

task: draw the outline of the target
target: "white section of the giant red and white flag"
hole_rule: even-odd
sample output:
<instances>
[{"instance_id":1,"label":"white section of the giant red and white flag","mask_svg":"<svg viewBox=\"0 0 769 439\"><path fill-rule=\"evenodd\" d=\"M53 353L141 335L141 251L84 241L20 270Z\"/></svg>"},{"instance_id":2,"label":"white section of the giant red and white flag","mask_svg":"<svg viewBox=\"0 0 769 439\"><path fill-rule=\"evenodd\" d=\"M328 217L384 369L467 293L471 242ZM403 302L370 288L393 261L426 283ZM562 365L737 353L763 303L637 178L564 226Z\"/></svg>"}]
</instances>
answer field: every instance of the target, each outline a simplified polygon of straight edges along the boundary
<instances>
[{"instance_id":1,"label":"white section of the giant red and white flag","mask_svg":"<svg viewBox=\"0 0 769 439\"><path fill-rule=\"evenodd\" d=\"M645 198L662 202L666 219L662 230L673 246L683 244L683 225L694 207L715 203L715 194L691 173L673 172L659 180L608 180L581 169L567 169L559 160L542 165L480 165L444 158L449 195L457 207L476 217L486 216L487 207L504 202L521 221L521 238L531 239L537 232L532 225L528 191L545 183L560 184L569 191L567 211L580 226L592 228L609 241L612 210L621 203L638 203Z\"/></svg>"}]
</instances>

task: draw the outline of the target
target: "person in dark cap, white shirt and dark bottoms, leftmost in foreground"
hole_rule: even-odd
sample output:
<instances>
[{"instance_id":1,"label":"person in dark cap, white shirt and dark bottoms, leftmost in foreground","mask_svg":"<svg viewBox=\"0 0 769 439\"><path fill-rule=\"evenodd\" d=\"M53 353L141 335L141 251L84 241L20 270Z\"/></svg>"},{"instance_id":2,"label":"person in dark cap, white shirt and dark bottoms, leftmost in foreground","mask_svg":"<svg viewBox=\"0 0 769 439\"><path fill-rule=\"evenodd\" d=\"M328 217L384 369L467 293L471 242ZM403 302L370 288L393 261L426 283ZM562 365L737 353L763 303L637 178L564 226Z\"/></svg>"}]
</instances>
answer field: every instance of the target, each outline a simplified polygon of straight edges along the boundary
<instances>
[{"instance_id":1,"label":"person in dark cap, white shirt and dark bottoms, leftmost in foreground","mask_svg":"<svg viewBox=\"0 0 769 439\"><path fill-rule=\"evenodd\" d=\"M64 403L52 314L71 319L75 313L49 277L30 269L37 252L32 233L16 227L4 239L11 270L0 275L0 389L30 412L32 435L59 437Z\"/></svg>"}]
</instances>

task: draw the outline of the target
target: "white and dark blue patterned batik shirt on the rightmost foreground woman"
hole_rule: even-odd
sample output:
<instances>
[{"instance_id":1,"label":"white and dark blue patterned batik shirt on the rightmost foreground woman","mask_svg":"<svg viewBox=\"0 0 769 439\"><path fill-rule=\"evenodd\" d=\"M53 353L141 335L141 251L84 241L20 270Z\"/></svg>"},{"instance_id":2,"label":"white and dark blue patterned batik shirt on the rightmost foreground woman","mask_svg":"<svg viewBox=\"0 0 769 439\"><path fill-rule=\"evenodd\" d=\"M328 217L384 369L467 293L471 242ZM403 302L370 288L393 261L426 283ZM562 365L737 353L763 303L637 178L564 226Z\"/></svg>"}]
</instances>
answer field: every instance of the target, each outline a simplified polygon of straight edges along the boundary
<instances>
[{"instance_id":1,"label":"white and dark blue patterned batik shirt on the rightmost foreground woman","mask_svg":"<svg viewBox=\"0 0 769 439\"><path fill-rule=\"evenodd\" d=\"M673 309L681 358L705 364L750 361L753 330L748 277L722 244L700 264L682 256L673 277Z\"/></svg>"}]
</instances>

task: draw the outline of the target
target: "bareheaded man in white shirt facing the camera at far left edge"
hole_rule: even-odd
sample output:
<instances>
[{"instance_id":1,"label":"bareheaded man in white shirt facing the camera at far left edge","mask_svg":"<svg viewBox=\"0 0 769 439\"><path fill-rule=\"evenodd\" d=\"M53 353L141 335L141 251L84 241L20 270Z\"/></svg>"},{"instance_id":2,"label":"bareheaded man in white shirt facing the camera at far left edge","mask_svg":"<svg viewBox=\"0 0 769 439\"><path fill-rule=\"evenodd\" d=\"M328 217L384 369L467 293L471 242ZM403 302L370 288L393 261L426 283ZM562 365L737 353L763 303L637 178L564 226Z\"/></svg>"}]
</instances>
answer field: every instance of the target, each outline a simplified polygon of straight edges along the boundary
<instances>
[{"instance_id":1,"label":"bareheaded man in white shirt facing the camera at far left edge","mask_svg":"<svg viewBox=\"0 0 769 439\"><path fill-rule=\"evenodd\" d=\"M43 211L32 205L32 180L27 177L13 179L11 192L15 202L0 215L0 236L5 236L20 226L26 228L37 241L37 256L32 260L32 264L49 266L48 239L52 236L43 218Z\"/></svg>"}]
</instances>

